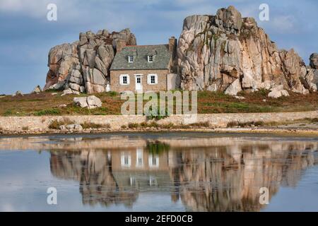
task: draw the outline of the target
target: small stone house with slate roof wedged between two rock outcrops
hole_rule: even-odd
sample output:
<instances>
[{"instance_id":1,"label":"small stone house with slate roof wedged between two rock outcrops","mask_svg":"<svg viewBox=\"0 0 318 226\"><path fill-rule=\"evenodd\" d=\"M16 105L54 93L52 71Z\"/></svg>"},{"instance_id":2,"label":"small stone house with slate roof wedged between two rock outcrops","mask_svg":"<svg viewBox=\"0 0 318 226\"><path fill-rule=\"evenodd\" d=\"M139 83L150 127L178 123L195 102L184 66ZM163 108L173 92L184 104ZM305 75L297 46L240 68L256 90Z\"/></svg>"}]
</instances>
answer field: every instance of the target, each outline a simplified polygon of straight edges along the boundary
<instances>
[{"instance_id":1,"label":"small stone house with slate roof wedged between two rock outcrops","mask_svg":"<svg viewBox=\"0 0 318 226\"><path fill-rule=\"evenodd\" d=\"M174 90L179 78L175 69L177 40L168 44L124 46L117 42L117 54L110 67L110 90L147 92Z\"/></svg>"}]
</instances>

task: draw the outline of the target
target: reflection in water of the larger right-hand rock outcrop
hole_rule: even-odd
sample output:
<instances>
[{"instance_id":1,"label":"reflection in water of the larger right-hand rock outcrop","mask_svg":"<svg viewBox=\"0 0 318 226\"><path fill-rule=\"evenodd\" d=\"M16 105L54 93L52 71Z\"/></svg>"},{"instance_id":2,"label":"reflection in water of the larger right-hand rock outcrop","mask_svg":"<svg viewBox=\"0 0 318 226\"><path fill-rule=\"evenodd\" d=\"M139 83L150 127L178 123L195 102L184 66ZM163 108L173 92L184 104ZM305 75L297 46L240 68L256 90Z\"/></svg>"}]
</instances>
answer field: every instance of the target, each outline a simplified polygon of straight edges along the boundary
<instances>
[{"instance_id":1,"label":"reflection in water of the larger right-hand rock outcrop","mask_svg":"<svg viewBox=\"0 0 318 226\"><path fill-rule=\"evenodd\" d=\"M179 196L188 210L257 211L264 207L259 204L261 187L269 188L271 198L279 186L295 186L302 169L318 163L313 148L262 145L184 150L171 174L180 184Z\"/></svg>"}]
</instances>

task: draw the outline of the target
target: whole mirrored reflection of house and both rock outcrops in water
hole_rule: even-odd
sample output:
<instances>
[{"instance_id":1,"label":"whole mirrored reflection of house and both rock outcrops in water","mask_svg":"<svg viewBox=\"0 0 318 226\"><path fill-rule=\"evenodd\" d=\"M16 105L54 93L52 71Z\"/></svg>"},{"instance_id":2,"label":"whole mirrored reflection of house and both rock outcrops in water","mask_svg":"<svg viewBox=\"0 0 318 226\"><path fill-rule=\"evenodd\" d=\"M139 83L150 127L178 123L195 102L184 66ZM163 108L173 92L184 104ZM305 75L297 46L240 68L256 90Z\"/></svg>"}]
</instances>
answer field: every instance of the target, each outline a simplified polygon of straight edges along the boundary
<instances>
[{"instance_id":1,"label":"whole mirrored reflection of house and both rock outcrops in water","mask_svg":"<svg viewBox=\"0 0 318 226\"><path fill-rule=\"evenodd\" d=\"M140 193L151 191L170 192L189 211L257 211L264 207L261 187L269 188L271 198L280 186L297 185L302 170L318 163L317 143L305 141L202 147L165 142L108 152L52 151L52 174L80 182L83 203L90 205L133 206Z\"/></svg>"}]
</instances>

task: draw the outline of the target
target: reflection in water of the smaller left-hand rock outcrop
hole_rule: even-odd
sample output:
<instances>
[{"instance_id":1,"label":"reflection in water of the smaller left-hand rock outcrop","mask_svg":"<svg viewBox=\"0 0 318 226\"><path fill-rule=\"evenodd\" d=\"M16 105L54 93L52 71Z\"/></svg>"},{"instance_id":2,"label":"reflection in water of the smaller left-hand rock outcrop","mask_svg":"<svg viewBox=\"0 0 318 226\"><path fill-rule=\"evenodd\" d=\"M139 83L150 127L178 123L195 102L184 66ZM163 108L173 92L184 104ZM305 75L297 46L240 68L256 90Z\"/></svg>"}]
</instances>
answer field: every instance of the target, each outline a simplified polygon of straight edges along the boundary
<instances>
[{"instance_id":1,"label":"reflection in water of the smaller left-hand rock outcrop","mask_svg":"<svg viewBox=\"0 0 318 226\"><path fill-rule=\"evenodd\" d=\"M111 156L105 151L52 152L51 170L56 177L80 182L83 203L108 206L136 201L136 191L122 191L112 174Z\"/></svg>"}]
</instances>

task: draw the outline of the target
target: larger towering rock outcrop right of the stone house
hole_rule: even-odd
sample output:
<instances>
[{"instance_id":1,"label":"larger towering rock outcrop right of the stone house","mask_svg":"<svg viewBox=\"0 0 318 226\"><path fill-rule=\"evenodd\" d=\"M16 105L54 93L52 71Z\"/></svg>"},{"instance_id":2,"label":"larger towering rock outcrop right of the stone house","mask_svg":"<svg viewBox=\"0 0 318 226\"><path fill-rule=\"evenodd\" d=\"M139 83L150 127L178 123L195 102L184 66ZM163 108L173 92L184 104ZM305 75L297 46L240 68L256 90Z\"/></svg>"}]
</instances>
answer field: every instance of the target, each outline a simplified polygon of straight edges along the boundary
<instances>
[{"instance_id":1,"label":"larger towering rock outcrop right of the stone house","mask_svg":"<svg viewBox=\"0 0 318 226\"><path fill-rule=\"evenodd\" d=\"M314 65L317 58L312 59ZM185 18L177 64L184 90L230 95L276 85L303 94L317 90L298 54L278 50L254 18L242 18L234 6L220 8L216 16Z\"/></svg>"}]
</instances>

